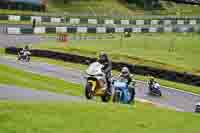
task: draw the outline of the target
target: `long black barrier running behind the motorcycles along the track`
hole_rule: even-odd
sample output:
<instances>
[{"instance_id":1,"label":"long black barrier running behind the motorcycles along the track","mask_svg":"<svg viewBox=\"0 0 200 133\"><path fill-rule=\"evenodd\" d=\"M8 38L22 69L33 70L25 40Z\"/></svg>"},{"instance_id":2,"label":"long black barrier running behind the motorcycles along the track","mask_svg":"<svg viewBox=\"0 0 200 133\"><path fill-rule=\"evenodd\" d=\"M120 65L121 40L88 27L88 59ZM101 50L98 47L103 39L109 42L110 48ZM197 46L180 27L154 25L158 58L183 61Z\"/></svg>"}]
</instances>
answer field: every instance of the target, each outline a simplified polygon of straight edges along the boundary
<instances>
[{"instance_id":1,"label":"long black barrier running behind the motorcycles along the track","mask_svg":"<svg viewBox=\"0 0 200 133\"><path fill-rule=\"evenodd\" d=\"M19 50L20 49L16 47L9 47L9 48L6 48L6 53L17 54ZM73 62L73 63L80 63L80 64L87 64L87 63L96 61L96 58L80 56L80 55L75 55L71 53L49 51L49 50L33 49L31 50L31 53L33 56L37 56L37 57L45 57L45 58L51 58L51 59L68 61L68 62ZM134 74L139 74L139 75L144 75L144 76L152 75L156 78L160 78L164 80L180 82L180 83L185 83L185 84L194 85L194 86L200 86L200 76L198 75L193 75L186 72L170 71L170 70L154 68L150 66L133 65L133 64L125 63L125 62L113 61L112 64L113 64L113 69L115 70L120 70L122 67L126 66L130 69L131 73L134 73Z\"/></svg>"}]
</instances>

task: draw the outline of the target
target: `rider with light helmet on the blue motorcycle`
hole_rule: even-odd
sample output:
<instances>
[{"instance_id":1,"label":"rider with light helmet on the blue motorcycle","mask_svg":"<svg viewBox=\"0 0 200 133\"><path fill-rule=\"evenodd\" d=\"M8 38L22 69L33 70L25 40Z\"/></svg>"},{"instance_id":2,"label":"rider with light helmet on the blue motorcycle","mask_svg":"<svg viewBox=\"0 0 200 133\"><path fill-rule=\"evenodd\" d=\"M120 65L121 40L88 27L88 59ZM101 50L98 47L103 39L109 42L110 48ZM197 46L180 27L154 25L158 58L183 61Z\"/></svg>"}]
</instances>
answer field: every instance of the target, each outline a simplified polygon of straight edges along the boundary
<instances>
[{"instance_id":1,"label":"rider with light helmet on the blue motorcycle","mask_svg":"<svg viewBox=\"0 0 200 133\"><path fill-rule=\"evenodd\" d=\"M129 90L132 91L131 100L135 97L135 81L132 80L132 75L127 67L123 67L118 77L120 80L127 82Z\"/></svg>"}]
</instances>

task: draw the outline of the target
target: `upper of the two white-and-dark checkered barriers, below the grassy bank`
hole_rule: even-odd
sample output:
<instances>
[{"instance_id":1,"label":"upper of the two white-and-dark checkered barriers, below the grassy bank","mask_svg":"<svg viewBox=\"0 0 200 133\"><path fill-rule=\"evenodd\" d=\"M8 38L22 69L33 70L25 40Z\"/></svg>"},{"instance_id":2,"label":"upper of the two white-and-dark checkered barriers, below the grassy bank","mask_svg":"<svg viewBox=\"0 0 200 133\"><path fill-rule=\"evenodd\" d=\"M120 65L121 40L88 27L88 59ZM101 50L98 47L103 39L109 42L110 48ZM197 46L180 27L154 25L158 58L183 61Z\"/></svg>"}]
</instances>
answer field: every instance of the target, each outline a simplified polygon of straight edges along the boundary
<instances>
[{"instance_id":1,"label":"upper of the two white-and-dark checkered barriers, below the grassy bank","mask_svg":"<svg viewBox=\"0 0 200 133\"><path fill-rule=\"evenodd\" d=\"M197 25L200 24L200 17L132 17L132 18L105 18L105 17L50 17L50 16L19 16L0 15L0 21L29 21L36 20L37 23L65 23L71 25Z\"/></svg>"}]
</instances>

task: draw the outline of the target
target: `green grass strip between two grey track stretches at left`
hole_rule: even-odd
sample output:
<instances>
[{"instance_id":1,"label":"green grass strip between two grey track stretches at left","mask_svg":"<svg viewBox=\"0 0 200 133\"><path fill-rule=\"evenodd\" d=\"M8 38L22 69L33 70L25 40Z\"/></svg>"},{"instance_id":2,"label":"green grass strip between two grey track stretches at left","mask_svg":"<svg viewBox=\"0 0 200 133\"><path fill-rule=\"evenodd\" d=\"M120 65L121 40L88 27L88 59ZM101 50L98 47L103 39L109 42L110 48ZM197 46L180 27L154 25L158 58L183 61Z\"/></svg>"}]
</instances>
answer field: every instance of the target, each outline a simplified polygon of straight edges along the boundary
<instances>
[{"instance_id":1,"label":"green grass strip between two grey track stretches at left","mask_svg":"<svg viewBox=\"0 0 200 133\"><path fill-rule=\"evenodd\" d=\"M47 90L70 95L82 95L82 86L61 79L24 72L0 64L0 84L13 85L37 90Z\"/></svg>"}]
</instances>

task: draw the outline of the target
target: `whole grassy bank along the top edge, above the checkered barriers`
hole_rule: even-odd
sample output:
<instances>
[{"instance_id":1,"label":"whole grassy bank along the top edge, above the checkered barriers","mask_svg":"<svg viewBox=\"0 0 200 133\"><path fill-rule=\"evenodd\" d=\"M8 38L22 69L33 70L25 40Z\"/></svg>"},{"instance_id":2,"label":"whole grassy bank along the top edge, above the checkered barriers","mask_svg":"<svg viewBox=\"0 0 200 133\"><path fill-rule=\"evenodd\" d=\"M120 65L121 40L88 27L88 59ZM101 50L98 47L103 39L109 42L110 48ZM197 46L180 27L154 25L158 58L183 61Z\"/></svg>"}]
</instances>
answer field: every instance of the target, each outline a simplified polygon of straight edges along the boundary
<instances>
[{"instance_id":1,"label":"whole grassy bank along the top edge, above the checkered barriers","mask_svg":"<svg viewBox=\"0 0 200 133\"><path fill-rule=\"evenodd\" d=\"M172 1L160 0L161 8L157 10L145 10L142 0L128 4L119 0L91 0L74 2L69 0L63 4L63 1L57 2L50 0L49 11L65 11L68 13L79 13L85 15L103 15L103 16L131 16L131 15L198 15L199 6L189 4L177 4Z\"/></svg>"}]
</instances>

